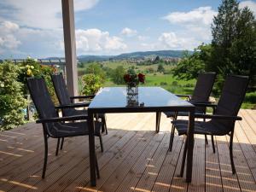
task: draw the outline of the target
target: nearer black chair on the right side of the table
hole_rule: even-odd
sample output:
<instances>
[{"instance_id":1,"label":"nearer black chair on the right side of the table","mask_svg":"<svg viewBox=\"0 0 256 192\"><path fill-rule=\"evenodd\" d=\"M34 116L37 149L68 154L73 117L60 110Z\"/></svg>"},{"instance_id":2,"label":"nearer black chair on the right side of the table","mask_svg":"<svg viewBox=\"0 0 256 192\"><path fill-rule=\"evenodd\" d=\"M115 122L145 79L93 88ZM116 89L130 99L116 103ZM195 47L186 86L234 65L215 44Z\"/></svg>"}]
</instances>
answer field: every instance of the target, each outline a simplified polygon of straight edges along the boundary
<instances>
[{"instance_id":1,"label":"nearer black chair on the right side of the table","mask_svg":"<svg viewBox=\"0 0 256 192\"><path fill-rule=\"evenodd\" d=\"M234 84L236 86L234 86ZM214 113L202 114L195 113L195 118L211 119L205 121L195 121L195 134L211 135L211 136L230 136L230 162L233 174L236 173L236 168L233 160L233 136L236 120L241 120L241 117L237 116L241 103L245 97L247 90L248 78L245 76L230 75L224 82L224 88L221 96L216 104L207 104L200 102L193 102L197 107L212 107ZM186 135L188 129L188 120L174 120L172 125L177 129L178 135ZM183 154L183 164L186 157L186 148L188 148L187 139L185 142L185 149ZM183 174L183 166L181 175Z\"/></svg>"}]
</instances>

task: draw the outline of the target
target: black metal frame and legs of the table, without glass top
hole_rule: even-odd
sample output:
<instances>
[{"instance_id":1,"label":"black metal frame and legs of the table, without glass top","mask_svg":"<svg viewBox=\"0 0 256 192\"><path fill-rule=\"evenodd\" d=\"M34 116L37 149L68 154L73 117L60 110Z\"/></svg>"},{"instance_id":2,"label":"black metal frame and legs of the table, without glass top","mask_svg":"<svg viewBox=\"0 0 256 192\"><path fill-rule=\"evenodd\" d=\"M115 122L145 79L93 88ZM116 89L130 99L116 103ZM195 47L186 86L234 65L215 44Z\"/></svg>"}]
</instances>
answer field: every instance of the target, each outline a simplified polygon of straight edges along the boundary
<instances>
[{"instance_id":1,"label":"black metal frame and legs of the table, without glass top","mask_svg":"<svg viewBox=\"0 0 256 192\"><path fill-rule=\"evenodd\" d=\"M90 185L96 186L96 150L94 136L94 116L96 113L156 113L156 131L159 131L161 112L189 112L189 125L187 132L187 169L186 182L190 183L192 178L193 149L194 149L194 124L195 124L195 106L166 106L166 107L131 107L131 108L88 108L89 124L89 148L90 148ZM184 148L185 150L185 148ZM185 152L184 152L185 154ZM185 160L185 159L184 159ZM183 160L183 163L184 163ZM183 176L183 166L181 171Z\"/></svg>"}]
</instances>

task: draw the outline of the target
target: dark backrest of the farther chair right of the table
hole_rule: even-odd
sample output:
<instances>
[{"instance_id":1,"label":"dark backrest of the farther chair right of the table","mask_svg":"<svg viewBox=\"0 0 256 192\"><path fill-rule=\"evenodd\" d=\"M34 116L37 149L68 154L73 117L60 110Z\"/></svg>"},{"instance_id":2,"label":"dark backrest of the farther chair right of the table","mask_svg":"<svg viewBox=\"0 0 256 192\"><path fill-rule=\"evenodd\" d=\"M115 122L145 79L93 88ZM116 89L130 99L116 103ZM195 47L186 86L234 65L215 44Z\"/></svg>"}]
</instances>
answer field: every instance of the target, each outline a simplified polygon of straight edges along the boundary
<instances>
[{"instance_id":1,"label":"dark backrest of the farther chair right of the table","mask_svg":"<svg viewBox=\"0 0 256 192\"><path fill-rule=\"evenodd\" d=\"M215 78L216 73L200 73L191 100L208 102Z\"/></svg>"}]
</instances>

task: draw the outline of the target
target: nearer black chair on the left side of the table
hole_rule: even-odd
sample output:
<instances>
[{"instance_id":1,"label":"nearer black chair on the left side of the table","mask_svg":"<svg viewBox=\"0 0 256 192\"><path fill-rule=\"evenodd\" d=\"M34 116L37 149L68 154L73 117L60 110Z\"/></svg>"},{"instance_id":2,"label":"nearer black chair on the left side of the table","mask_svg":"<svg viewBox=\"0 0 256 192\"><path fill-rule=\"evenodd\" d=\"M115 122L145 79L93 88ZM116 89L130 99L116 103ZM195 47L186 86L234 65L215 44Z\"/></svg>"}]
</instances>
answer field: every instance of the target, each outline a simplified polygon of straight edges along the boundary
<instances>
[{"instance_id":1,"label":"nearer black chair on the left side of the table","mask_svg":"<svg viewBox=\"0 0 256 192\"><path fill-rule=\"evenodd\" d=\"M32 96L32 101L38 111L39 119L37 123L42 123L44 131L44 178L48 159L48 139L49 137L59 139L64 137L78 137L89 135L89 127L85 119L86 115L58 117L58 109L70 108L70 106L55 107L49 96L49 91L43 78L27 79L28 90ZM76 120L83 120L75 122ZM68 122L68 123L67 123ZM95 122L95 134L101 137L101 122ZM58 148L58 147L57 147ZM99 169L96 162L97 176Z\"/></svg>"}]
</instances>

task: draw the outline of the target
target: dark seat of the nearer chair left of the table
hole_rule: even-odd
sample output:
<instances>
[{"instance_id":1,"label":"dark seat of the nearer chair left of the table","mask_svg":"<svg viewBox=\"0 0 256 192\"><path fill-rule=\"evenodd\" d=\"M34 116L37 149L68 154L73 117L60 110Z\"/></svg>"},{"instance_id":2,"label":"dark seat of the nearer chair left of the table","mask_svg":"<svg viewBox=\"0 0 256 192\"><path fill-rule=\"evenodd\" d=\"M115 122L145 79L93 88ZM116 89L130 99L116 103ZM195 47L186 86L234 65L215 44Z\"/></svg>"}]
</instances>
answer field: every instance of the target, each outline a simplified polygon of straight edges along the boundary
<instances>
[{"instance_id":1,"label":"dark seat of the nearer chair left of the table","mask_svg":"<svg viewBox=\"0 0 256 192\"><path fill-rule=\"evenodd\" d=\"M95 121L95 135L101 135L100 122ZM51 137L75 137L89 135L89 127L86 121L74 122L74 123L54 123L50 133Z\"/></svg>"}]
</instances>

